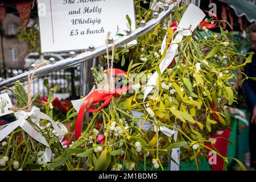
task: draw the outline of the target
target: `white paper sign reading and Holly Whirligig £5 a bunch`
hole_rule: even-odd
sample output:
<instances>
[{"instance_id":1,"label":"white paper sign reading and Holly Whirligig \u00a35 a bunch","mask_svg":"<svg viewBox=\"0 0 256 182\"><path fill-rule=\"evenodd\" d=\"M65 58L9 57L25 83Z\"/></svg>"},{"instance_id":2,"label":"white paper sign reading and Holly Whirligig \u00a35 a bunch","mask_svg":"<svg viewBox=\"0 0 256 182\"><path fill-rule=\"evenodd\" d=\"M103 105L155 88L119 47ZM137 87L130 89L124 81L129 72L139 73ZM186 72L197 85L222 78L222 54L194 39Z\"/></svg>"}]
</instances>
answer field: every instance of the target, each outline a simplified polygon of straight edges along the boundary
<instances>
[{"instance_id":1,"label":"white paper sign reading and Holly Whirligig \u00a35 a bunch","mask_svg":"<svg viewBox=\"0 0 256 182\"><path fill-rule=\"evenodd\" d=\"M42 52L87 49L105 44L108 32L114 39L135 30L133 0L38 0Z\"/></svg>"}]
</instances>

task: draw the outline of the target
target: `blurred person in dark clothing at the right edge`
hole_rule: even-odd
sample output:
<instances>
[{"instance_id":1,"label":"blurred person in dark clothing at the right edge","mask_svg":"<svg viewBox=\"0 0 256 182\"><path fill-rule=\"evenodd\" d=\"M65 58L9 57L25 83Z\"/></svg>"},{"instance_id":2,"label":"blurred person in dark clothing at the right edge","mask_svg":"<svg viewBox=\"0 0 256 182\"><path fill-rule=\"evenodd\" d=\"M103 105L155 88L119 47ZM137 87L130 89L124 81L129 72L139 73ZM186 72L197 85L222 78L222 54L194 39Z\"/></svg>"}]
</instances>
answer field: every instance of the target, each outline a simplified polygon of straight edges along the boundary
<instances>
[{"instance_id":1,"label":"blurred person in dark clothing at the right edge","mask_svg":"<svg viewBox=\"0 0 256 182\"><path fill-rule=\"evenodd\" d=\"M250 51L256 52L256 22L249 27ZM247 77L256 77L256 56L250 64L245 66L244 73ZM256 81L252 79L243 82L243 92L245 93L246 102L251 110L251 121L249 131L251 168L256 169Z\"/></svg>"}]
</instances>

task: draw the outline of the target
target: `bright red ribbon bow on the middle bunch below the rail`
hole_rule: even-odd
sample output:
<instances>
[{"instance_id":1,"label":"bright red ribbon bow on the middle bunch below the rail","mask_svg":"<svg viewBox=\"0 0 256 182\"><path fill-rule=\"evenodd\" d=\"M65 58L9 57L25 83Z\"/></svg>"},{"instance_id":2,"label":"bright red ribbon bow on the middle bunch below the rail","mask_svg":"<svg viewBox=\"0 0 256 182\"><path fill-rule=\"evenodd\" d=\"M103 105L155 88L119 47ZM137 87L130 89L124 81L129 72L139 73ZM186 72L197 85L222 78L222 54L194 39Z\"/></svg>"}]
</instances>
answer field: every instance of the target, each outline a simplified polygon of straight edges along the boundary
<instances>
[{"instance_id":1,"label":"bright red ribbon bow on the middle bunch below the rail","mask_svg":"<svg viewBox=\"0 0 256 182\"><path fill-rule=\"evenodd\" d=\"M107 71L107 74L110 75L111 72L113 73L112 74L113 76L127 76L127 73L122 71L121 69L110 69L110 71ZM75 127L76 139L79 139L79 137L81 136L82 120L87 111L89 113L96 113L98 110L101 110L103 107L109 105L109 102L111 101L112 96L118 97L120 93L124 93L127 90L129 90L130 86L131 85L124 86L122 88L115 89L114 91L97 90L89 94L89 96L86 97L85 101L82 103L79 113L77 115L76 127ZM98 107L97 109L91 109L93 106L97 105L98 102L100 101L104 101L100 107Z\"/></svg>"}]
</instances>

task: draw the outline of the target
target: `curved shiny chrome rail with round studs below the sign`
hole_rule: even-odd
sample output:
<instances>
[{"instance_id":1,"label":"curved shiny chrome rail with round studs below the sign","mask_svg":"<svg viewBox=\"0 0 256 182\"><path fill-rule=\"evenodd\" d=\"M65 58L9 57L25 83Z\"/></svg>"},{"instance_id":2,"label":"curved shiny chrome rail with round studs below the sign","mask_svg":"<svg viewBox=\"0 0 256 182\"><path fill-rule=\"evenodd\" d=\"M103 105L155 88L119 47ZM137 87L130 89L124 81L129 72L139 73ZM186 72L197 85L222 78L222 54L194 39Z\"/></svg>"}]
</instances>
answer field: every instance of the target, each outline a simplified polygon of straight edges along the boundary
<instances>
[{"instance_id":1,"label":"curved shiny chrome rail with round studs below the sign","mask_svg":"<svg viewBox=\"0 0 256 182\"><path fill-rule=\"evenodd\" d=\"M177 0L176 3L180 3L181 0ZM137 28L131 34L122 36L121 38L118 38L115 40L115 48L121 47L134 39L137 39L139 36L145 34L146 32L152 30L152 28L156 27L160 22L162 22L164 19L167 18L168 15L171 14L172 10L174 9L175 4L171 3L170 5L164 5L164 11L160 13L159 15L157 13L153 14L153 19L151 19L149 22L143 22L141 23L141 27ZM112 44L108 45L108 49L112 49ZM68 59L64 59L61 61L57 61L54 64L48 64L45 65L35 71L34 78L47 75L48 73L59 71L60 69L65 69L69 67L73 67L76 64L82 63L83 61L90 60L93 57L97 57L100 55L103 55L106 53L106 45L103 45L101 47L98 47L92 51L80 53L79 55L76 55L75 57L70 57ZM11 87L15 84L15 81L27 81L28 72L22 73L20 75L8 78L5 81L0 82L0 91L4 90L3 86Z\"/></svg>"}]
</instances>

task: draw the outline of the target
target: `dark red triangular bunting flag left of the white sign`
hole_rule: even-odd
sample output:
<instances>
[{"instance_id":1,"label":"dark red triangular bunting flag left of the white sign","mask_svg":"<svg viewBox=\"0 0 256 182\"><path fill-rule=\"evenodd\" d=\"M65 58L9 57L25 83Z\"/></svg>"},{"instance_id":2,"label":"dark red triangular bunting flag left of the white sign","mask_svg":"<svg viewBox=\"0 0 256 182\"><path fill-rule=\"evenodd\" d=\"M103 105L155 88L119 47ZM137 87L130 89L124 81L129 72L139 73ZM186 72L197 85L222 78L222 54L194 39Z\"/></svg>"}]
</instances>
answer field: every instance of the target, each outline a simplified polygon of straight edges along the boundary
<instances>
[{"instance_id":1,"label":"dark red triangular bunting flag left of the white sign","mask_svg":"<svg viewBox=\"0 0 256 182\"><path fill-rule=\"evenodd\" d=\"M30 20L32 1L17 2L16 9L18 10L20 21L23 28L27 28L27 24Z\"/></svg>"}]
</instances>

